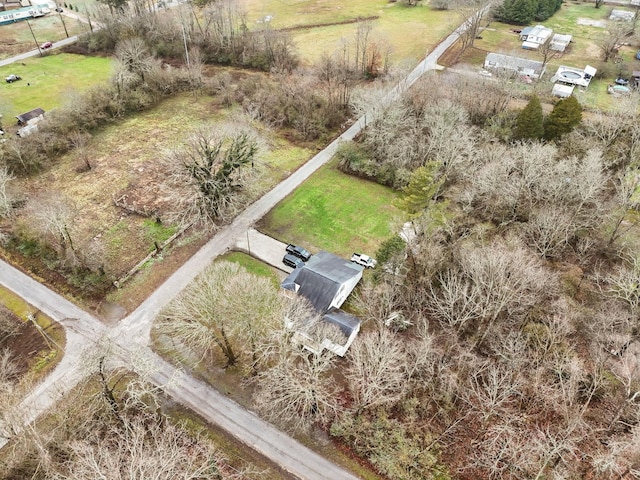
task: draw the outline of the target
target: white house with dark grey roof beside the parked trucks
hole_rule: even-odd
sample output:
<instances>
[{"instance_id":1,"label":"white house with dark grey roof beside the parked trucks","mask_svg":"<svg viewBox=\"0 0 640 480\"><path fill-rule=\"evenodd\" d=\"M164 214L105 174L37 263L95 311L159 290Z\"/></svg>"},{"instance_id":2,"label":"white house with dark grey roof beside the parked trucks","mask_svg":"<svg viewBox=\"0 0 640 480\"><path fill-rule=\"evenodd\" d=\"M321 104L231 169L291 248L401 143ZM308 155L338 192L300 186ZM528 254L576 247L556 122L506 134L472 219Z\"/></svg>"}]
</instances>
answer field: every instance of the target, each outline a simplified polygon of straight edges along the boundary
<instances>
[{"instance_id":1,"label":"white house with dark grey roof beside the parked trucks","mask_svg":"<svg viewBox=\"0 0 640 480\"><path fill-rule=\"evenodd\" d=\"M321 251L280 284L286 295L302 295L311 303L318 317L310 322L334 327L331 338L313 339L305 331L296 332L306 349L316 353L327 349L340 356L347 352L360 331L360 320L340 310L340 306L362 278L363 270L361 265Z\"/></svg>"}]
</instances>

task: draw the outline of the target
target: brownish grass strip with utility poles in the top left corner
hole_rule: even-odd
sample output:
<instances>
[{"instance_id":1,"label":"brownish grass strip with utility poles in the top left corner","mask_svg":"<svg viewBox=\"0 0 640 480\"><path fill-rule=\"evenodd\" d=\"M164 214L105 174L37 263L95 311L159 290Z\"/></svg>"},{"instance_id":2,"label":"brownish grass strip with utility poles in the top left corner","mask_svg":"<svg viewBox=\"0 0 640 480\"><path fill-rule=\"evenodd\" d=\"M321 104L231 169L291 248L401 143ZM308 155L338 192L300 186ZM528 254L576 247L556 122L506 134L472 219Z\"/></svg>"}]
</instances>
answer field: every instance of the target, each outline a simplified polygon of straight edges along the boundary
<instances>
[{"instance_id":1,"label":"brownish grass strip with utility poles in the top left corner","mask_svg":"<svg viewBox=\"0 0 640 480\"><path fill-rule=\"evenodd\" d=\"M33 29L33 35L29 25ZM65 25L69 36L84 33L89 28L86 24L74 18L65 17L64 14L61 19L60 15L55 12L29 20L29 23L22 21L9 25L0 25L0 60L28 50L34 50L37 48L36 43L41 45L47 41L57 42L67 38L64 30Z\"/></svg>"}]
</instances>

